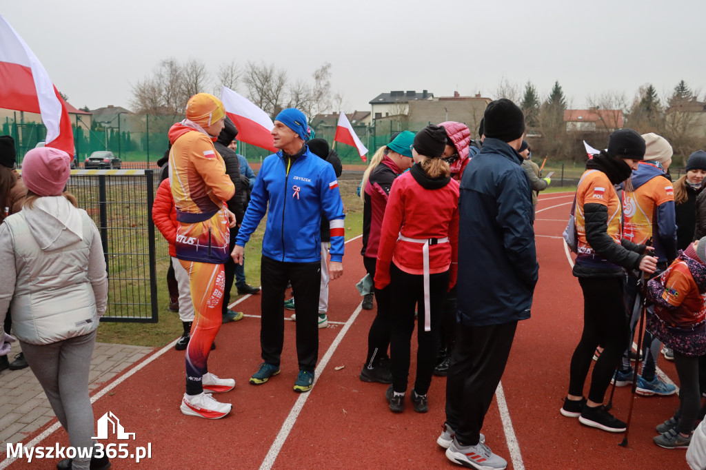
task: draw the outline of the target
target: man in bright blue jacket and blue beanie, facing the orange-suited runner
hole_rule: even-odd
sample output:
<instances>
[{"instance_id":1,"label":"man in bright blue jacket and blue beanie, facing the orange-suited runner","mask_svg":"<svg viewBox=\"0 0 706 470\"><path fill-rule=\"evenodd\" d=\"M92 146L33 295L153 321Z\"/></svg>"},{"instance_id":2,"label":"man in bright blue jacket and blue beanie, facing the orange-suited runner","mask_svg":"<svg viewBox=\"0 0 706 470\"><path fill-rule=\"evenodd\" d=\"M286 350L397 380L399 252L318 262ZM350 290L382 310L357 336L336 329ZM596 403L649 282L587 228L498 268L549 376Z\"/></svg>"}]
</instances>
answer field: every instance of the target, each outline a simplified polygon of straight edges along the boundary
<instances>
[{"instance_id":1,"label":"man in bright blue jacket and blue beanie, facing the orange-suited runner","mask_svg":"<svg viewBox=\"0 0 706 470\"><path fill-rule=\"evenodd\" d=\"M285 335L285 289L297 292L297 357L295 392L308 392L318 358L318 297L321 288L321 215L331 231L330 279L343 273L345 227L343 201L333 167L309 152L306 116L289 108L275 118L272 135L280 151L265 158L232 256L242 263L244 246L268 212L263 238L260 344L263 363L250 378L261 385L280 373ZM268 210L269 205L269 210Z\"/></svg>"}]
</instances>

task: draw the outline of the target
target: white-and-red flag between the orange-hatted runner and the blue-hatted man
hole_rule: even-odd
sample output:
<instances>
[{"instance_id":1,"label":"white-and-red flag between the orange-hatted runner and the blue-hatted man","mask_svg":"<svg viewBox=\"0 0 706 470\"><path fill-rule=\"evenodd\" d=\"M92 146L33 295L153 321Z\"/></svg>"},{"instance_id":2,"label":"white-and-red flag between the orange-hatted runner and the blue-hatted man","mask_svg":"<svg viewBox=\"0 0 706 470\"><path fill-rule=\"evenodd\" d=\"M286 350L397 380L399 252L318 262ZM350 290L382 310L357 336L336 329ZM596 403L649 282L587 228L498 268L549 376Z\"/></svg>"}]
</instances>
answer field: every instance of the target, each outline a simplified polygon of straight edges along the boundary
<instances>
[{"instance_id":1,"label":"white-and-red flag between the orange-hatted runner and the blue-hatted man","mask_svg":"<svg viewBox=\"0 0 706 470\"><path fill-rule=\"evenodd\" d=\"M272 152L279 150L270 134L275 123L267 113L227 87L221 88L221 101L225 106L225 113L238 128L237 140Z\"/></svg>"}]
</instances>

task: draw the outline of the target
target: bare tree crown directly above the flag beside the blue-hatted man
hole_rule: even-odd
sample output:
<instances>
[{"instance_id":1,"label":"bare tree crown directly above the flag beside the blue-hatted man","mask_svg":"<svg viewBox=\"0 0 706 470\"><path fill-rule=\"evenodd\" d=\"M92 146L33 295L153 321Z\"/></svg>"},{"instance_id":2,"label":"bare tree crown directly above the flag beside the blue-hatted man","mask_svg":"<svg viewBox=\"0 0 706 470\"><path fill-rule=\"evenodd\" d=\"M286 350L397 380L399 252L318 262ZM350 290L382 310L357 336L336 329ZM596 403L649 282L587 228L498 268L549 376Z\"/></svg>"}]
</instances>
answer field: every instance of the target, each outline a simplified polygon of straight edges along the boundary
<instances>
[{"instance_id":1,"label":"bare tree crown directly above the flag beside the blue-hatted man","mask_svg":"<svg viewBox=\"0 0 706 470\"><path fill-rule=\"evenodd\" d=\"M282 110L287 87L287 73L284 70L275 68L274 64L248 62L243 83L250 100L264 112L275 116Z\"/></svg>"}]
</instances>

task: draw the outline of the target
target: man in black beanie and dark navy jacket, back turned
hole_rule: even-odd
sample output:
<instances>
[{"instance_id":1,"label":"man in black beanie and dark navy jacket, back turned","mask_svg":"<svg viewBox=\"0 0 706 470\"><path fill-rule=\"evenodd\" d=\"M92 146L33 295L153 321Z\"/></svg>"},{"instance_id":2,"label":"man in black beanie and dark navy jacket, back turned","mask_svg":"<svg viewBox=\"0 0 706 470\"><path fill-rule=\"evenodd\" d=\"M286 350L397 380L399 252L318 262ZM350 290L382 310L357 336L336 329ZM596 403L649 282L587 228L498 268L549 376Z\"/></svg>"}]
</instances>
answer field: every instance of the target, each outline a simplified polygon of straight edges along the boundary
<instances>
[{"instance_id":1,"label":"man in black beanie and dark navy jacket, back turned","mask_svg":"<svg viewBox=\"0 0 706 470\"><path fill-rule=\"evenodd\" d=\"M530 181L517 153L525 116L510 100L484 115L483 148L461 179L458 332L446 382L446 422L437 442L471 468L505 469L480 433L505 370L518 320L530 318L537 284ZM482 464L481 464L482 462Z\"/></svg>"}]
</instances>

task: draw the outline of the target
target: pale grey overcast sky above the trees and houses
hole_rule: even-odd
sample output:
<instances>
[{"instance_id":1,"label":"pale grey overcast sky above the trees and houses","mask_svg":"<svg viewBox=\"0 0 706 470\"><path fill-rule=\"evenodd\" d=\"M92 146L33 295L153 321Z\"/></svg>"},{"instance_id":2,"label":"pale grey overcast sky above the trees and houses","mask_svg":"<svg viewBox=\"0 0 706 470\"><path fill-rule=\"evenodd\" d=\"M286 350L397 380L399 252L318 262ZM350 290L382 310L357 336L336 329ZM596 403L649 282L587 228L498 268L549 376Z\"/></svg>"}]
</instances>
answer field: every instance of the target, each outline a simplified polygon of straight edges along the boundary
<instances>
[{"instance_id":1,"label":"pale grey overcast sky above the trees and houses","mask_svg":"<svg viewBox=\"0 0 706 470\"><path fill-rule=\"evenodd\" d=\"M292 80L328 61L347 112L390 90L495 97L503 77L542 97L558 80L573 107L609 91L631 101L647 82L706 92L704 0L0 0L0 13L90 109L129 108L131 85L169 57L200 59L214 81L233 59Z\"/></svg>"}]
</instances>

